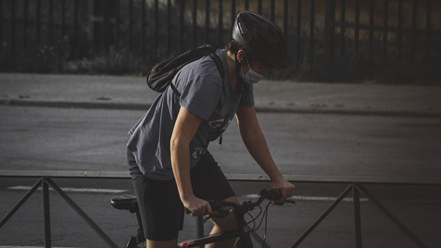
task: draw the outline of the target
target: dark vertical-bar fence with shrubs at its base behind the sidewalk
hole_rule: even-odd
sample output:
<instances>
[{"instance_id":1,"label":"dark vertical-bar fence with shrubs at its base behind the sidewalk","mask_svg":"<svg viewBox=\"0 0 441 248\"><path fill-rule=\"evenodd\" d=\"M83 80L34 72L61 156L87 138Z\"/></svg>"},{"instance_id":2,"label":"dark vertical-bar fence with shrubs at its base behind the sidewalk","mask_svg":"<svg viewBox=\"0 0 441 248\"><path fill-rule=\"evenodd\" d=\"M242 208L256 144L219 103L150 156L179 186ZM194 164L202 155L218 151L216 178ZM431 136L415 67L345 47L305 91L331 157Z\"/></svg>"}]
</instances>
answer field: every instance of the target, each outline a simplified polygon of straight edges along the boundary
<instances>
[{"instance_id":1,"label":"dark vertical-bar fence with shrubs at its base behind the sidewalk","mask_svg":"<svg viewBox=\"0 0 441 248\"><path fill-rule=\"evenodd\" d=\"M115 63L129 62L130 54L145 68L201 43L223 46L241 10L264 14L284 31L291 67L276 76L350 79L396 63L440 65L441 2L434 0L0 0L0 6L2 55L34 53L58 71L65 61L109 54ZM8 70L13 63L5 60Z\"/></svg>"}]
</instances>

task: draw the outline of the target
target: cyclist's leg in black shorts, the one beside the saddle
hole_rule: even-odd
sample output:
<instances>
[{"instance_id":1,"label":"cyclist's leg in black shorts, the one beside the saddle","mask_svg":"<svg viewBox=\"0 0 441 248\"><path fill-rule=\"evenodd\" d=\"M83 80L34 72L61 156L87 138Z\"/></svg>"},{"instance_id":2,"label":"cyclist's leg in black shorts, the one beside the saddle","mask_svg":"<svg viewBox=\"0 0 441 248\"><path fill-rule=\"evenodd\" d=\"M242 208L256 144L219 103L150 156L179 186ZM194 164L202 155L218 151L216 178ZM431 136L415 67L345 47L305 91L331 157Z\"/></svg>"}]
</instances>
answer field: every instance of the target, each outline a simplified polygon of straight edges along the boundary
<instances>
[{"instance_id":1,"label":"cyclist's leg in black shorts, the one beside the saddle","mask_svg":"<svg viewBox=\"0 0 441 248\"><path fill-rule=\"evenodd\" d=\"M153 180L139 170L127 152L130 176L138 200L146 247L177 247L183 226L183 206L174 180Z\"/></svg>"}]
</instances>

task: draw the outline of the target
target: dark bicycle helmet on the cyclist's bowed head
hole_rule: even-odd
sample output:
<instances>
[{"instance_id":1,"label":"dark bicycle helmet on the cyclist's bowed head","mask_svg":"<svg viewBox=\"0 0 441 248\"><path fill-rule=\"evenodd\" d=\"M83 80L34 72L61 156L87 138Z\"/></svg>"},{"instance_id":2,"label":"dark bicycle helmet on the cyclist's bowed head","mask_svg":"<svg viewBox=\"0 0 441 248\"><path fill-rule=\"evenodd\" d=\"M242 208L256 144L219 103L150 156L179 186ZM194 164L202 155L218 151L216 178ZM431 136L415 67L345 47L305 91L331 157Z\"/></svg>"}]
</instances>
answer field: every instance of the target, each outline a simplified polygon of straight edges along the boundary
<instances>
[{"instance_id":1,"label":"dark bicycle helmet on the cyclist's bowed head","mask_svg":"<svg viewBox=\"0 0 441 248\"><path fill-rule=\"evenodd\" d=\"M269 68L287 66L287 44L282 30L272 21L249 11L240 12L233 27L233 39Z\"/></svg>"}]
</instances>

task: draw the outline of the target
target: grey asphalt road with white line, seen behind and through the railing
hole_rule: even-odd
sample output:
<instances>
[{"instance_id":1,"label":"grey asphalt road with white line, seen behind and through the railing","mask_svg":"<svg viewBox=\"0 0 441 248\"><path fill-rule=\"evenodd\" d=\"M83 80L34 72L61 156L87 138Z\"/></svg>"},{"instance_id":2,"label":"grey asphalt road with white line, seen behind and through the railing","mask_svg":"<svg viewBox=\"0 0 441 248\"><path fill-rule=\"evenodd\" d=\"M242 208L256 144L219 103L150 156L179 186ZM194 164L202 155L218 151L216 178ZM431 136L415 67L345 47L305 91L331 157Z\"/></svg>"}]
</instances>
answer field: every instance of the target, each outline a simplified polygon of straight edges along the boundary
<instances>
[{"instance_id":1,"label":"grey asphalt road with white line, seen behind and through the railing","mask_svg":"<svg viewBox=\"0 0 441 248\"><path fill-rule=\"evenodd\" d=\"M0 169L125 171L127 130L141 111L0 106ZM276 163L284 174L438 178L441 119L331 114L260 113ZM232 123L223 145L211 150L225 173L260 174ZM134 233L134 216L112 209L109 200L132 191L130 180L56 180L70 189L114 189L68 194L121 247ZM17 203L32 179L1 178L0 215ZM233 183L243 199L267 183ZM270 209L267 242L287 247L331 204L346 185L300 183L296 205ZM441 189L429 186L369 186L389 210L428 247L440 247ZM121 190L116 192L116 190ZM51 193L52 245L106 247L65 202ZM320 198L322 197L322 198ZM349 196L350 197L350 196ZM362 196L363 197L363 196ZM362 200L365 247L415 247L369 200ZM41 192L0 229L1 245L41 246ZM194 236L186 216L181 238ZM207 225L206 229L209 229ZM260 229L263 231L263 228ZM261 233L260 233L261 234ZM300 247L354 247L353 206L341 203Z\"/></svg>"}]
</instances>

